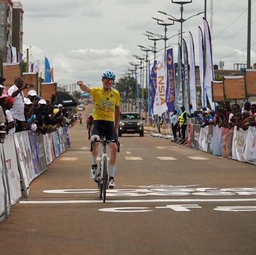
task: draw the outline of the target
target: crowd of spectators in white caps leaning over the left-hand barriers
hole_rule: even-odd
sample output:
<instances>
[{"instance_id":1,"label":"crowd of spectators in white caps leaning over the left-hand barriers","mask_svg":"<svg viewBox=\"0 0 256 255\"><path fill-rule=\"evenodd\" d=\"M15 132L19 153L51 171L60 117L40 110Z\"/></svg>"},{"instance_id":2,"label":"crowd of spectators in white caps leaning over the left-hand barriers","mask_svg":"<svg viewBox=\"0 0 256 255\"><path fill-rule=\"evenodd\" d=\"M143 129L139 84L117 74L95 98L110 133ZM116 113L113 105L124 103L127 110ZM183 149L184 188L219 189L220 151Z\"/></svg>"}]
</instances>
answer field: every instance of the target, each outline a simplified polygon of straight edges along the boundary
<instances>
[{"instance_id":1,"label":"crowd of spectators in white caps leaning over the left-hand barriers","mask_svg":"<svg viewBox=\"0 0 256 255\"><path fill-rule=\"evenodd\" d=\"M0 142L5 134L31 130L36 134L46 134L68 124L67 109L54 105L55 96L45 100L35 90L24 97L23 90L28 88L22 77L15 78L8 90L3 86L5 79L0 77Z\"/></svg>"}]
</instances>

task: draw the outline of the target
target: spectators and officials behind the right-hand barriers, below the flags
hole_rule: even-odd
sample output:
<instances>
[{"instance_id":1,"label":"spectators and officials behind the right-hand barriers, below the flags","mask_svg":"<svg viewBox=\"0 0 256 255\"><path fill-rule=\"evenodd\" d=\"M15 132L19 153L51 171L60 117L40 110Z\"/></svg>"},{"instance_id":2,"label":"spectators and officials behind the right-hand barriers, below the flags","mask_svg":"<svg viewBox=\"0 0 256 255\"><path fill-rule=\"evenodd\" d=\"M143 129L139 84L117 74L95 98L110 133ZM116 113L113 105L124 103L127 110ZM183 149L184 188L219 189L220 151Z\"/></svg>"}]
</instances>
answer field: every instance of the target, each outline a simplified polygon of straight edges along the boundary
<instances>
[{"instance_id":1,"label":"spectators and officials behind the right-hand barriers, below the flags","mask_svg":"<svg viewBox=\"0 0 256 255\"><path fill-rule=\"evenodd\" d=\"M181 121L180 121L181 120ZM202 128L207 125L232 128L234 126L246 130L249 126L256 127L256 104L244 102L243 105L230 104L225 101L216 104L216 109L210 110L202 107L200 111L193 114L186 112L184 107L181 111L175 109L173 112L166 111L161 116L152 116L150 123L155 125L157 132L161 133L161 127L170 124L173 139L177 143L183 143L188 123L200 124Z\"/></svg>"}]
</instances>

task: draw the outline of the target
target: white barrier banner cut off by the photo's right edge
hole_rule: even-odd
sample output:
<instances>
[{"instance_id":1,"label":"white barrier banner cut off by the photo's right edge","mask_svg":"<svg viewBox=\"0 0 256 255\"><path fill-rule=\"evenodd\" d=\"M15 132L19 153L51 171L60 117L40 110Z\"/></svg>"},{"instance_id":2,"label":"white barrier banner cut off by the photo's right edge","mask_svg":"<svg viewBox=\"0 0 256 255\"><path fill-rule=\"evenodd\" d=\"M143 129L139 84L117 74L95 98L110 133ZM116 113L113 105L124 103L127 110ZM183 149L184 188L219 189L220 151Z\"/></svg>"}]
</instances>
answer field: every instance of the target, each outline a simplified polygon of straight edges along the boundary
<instances>
[{"instance_id":1,"label":"white barrier banner cut off by the photo's right edge","mask_svg":"<svg viewBox=\"0 0 256 255\"><path fill-rule=\"evenodd\" d=\"M244 148L243 156L246 162L256 165L256 128L255 127L248 128L246 146Z\"/></svg>"}]
</instances>

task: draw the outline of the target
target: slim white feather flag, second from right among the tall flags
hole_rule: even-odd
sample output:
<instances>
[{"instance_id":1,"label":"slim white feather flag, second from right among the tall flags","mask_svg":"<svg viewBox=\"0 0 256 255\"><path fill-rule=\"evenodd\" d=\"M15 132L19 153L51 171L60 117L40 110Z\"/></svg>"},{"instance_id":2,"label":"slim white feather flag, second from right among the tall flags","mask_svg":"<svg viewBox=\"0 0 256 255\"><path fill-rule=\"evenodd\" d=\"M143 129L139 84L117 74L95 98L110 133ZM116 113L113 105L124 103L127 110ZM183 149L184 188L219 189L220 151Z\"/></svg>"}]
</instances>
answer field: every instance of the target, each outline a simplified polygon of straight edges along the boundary
<instances>
[{"instance_id":1,"label":"slim white feather flag, second from right among the tall flags","mask_svg":"<svg viewBox=\"0 0 256 255\"><path fill-rule=\"evenodd\" d=\"M199 40L199 72L201 84L201 102L202 107L206 107L206 91L204 86L204 37L201 27L198 26L198 40Z\"/></svg>"}]
</instances>

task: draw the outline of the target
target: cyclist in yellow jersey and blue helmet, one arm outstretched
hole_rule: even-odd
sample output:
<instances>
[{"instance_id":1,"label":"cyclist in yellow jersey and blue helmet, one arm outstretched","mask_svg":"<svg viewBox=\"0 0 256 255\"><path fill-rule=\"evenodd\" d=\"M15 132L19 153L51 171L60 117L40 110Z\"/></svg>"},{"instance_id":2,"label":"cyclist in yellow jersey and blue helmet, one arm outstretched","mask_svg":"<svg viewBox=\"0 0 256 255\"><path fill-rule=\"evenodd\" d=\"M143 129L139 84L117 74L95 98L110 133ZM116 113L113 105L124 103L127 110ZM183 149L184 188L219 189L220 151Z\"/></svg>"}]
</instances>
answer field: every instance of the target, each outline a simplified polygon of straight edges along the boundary
<instances>
[{"instance_id":1,"label":"cyclist in yellow jersey and blue helmet, one arm outstretched","mask_svg":"<svg viewBox=\"0 0 256 255\"><path fill-rule=\"evenodd\" d=\"M102 87L89 88L83 81L77 81L79 87L92 95L93 98L93 125L92 141L100 138L104 133L107 140L118 139L118 123L120 115L120 94L112 88L115 82L115 73L106 71L102 75ZM93 180L97 177L97 155L99 143L95 143L92 151L92 169L90 176ZM109 188L113 189L116 184L114 180L116 169L116 143L109 143L110 162L109 162Z\"/></svg>"}]
</instances>

